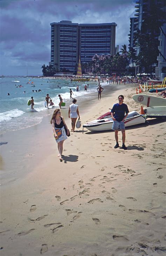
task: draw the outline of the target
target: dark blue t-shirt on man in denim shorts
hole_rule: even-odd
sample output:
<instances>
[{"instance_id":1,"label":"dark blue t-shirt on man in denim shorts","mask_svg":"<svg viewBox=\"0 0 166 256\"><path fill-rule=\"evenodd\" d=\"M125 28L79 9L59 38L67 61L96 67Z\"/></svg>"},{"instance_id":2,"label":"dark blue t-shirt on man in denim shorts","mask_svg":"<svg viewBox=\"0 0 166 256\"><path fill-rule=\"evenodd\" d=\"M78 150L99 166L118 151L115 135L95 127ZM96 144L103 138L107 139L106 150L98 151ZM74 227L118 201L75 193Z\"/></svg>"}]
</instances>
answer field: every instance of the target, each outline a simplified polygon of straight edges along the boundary
<instances>
[{"instance_id":1,"label":"dark blue t-shirt on man in denim shorts","mask_svg":"<svg viewBox=\"0 0 166 256\"><path fill-rule=\"evenodd\" d=\"M124 119L125 113L129 113L129 109L124 103L122 103L121 105L119 103L116 103L113 105L111 112L114 113L113 117L116 119L116 121L121 122Z\"/></svg>"}]
</instances>

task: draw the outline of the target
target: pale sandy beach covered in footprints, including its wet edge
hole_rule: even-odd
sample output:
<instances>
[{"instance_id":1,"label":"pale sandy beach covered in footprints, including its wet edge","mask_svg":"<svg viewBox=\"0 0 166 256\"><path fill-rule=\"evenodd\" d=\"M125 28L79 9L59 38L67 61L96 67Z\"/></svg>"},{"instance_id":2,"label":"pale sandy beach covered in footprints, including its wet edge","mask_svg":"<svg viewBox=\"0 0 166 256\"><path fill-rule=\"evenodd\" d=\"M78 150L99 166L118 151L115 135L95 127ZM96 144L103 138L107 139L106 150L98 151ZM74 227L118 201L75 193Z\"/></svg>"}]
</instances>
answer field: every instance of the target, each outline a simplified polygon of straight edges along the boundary
<instances>
[{"instance_id":1,"label":"pale sandy beach covered in footprints, including its wet edge","mask_svg":"<svg viewBox=\"0 0 166 256\"><path fill-rule=\"evenodd\" d=\"M120 94L130 111L140 110L134 85L112 88L101 100L78 102L82 124ZM67 109L62 115L70 129ZM2 134L0 255L165 255L166 126L148 122L126 129L127 150L114 149L113 131L81 127L64 142L63 162L50 116Z\"/></svg>"}]
</instances>

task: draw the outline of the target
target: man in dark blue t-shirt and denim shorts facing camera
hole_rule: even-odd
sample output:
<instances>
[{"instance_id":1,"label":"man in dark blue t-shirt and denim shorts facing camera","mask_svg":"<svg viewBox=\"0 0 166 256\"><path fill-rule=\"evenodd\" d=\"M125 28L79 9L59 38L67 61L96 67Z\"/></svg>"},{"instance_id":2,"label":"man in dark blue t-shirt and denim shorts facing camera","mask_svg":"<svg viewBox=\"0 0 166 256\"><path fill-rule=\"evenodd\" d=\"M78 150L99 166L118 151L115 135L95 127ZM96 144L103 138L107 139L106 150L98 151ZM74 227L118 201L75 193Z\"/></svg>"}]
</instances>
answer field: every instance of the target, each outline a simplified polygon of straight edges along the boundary
<instances>
[{"instance_id":1,"label":"man in dark blue t-shirt and denim shorts facing camera","mask_svg":"<svg viewBox=\"0 0 166 256\"><path fill-rule=\"evenodd\" d=\"M119 95L118 96L118 101L119 103L116 103L113 105L113 108L111 110L111 117L113 120L113 125L112 129L115 130L115 140L116 140L116 145L114 148L119 147L118 143L118 129L120 128L122 132L122 148L127 149L125 146L125 124L124 120L128 116L129 109L126 104L123 103L124 96ZM125 114L126 113L126 114Z\"/></svg>"}]
</instances>

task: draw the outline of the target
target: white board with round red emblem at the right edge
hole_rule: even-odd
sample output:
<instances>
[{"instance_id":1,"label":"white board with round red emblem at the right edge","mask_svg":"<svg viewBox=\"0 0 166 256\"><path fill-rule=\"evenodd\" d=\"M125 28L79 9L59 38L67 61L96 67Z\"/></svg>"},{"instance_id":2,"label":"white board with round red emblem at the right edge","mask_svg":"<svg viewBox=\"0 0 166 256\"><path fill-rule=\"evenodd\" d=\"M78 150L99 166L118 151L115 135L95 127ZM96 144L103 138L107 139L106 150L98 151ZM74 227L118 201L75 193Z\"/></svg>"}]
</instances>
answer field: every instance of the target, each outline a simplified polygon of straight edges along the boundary
<instances>
[{"instance_id":1,"label":"white board with round red emblem at the right edge","mask_svg":"<svg viewBox=\"0 0 166 256\"><path fill-rule=\"evenodd\" d=\"M166 99L162 97L157 96L151 96L147 94L135 94L133 96L133 100L145 105L147 107L160 107L160 106L166 106Z\"/></svg>"}]
</instances>

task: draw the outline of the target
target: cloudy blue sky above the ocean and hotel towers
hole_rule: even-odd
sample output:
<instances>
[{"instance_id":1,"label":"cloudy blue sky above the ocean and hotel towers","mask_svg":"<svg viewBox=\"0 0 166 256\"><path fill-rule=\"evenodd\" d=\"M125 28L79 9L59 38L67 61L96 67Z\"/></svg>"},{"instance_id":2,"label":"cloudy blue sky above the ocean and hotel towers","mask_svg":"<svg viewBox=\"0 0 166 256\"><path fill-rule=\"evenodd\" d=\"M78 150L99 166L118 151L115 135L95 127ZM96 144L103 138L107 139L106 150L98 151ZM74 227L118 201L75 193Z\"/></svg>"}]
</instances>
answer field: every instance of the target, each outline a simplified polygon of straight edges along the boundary
<instances>
[{"instance_id":1,"label":"cloudy blue sky above the ocean and hotel towers","mask_svg":"<svg viewBox=\"0 0 166 256\"><path fill-rule=\"evenodd\" d=\"M51 22L115 22L116 45L128 46L134 6L134 0L0 0L0 75L42 75Z\"/></svg>"}]
</instances>

